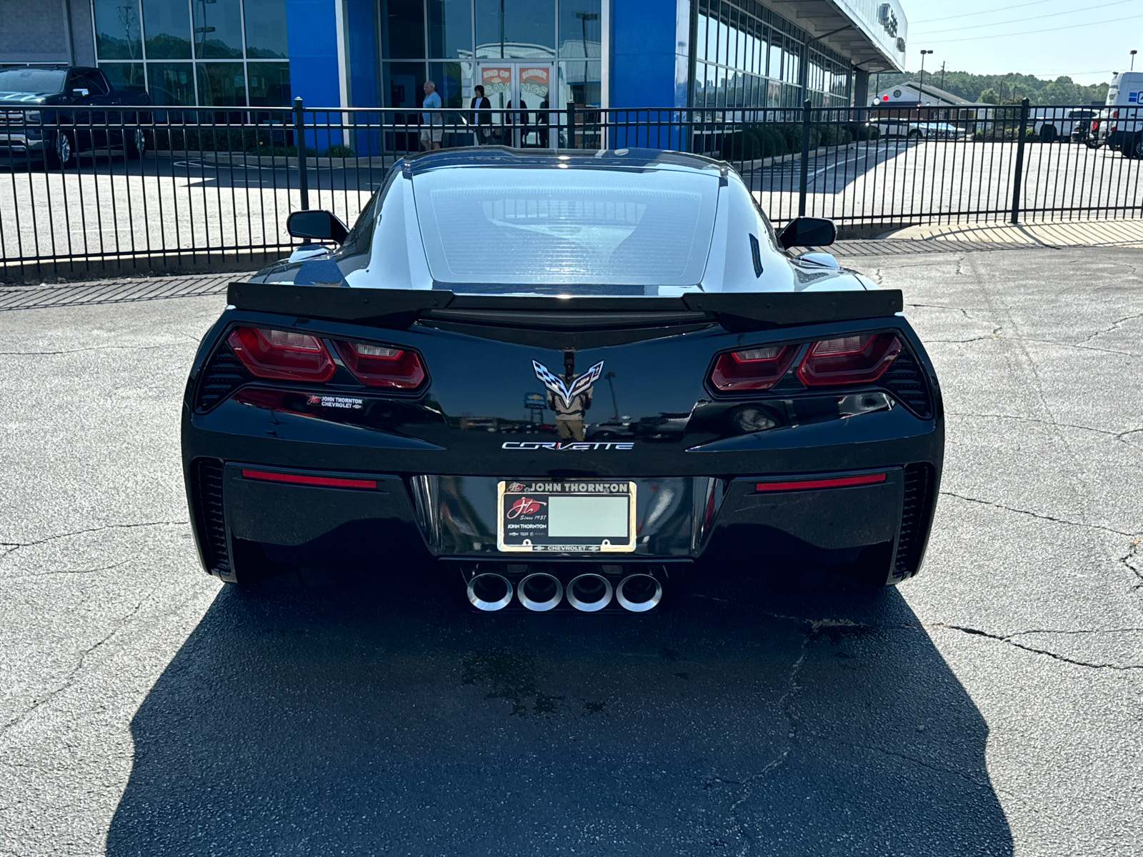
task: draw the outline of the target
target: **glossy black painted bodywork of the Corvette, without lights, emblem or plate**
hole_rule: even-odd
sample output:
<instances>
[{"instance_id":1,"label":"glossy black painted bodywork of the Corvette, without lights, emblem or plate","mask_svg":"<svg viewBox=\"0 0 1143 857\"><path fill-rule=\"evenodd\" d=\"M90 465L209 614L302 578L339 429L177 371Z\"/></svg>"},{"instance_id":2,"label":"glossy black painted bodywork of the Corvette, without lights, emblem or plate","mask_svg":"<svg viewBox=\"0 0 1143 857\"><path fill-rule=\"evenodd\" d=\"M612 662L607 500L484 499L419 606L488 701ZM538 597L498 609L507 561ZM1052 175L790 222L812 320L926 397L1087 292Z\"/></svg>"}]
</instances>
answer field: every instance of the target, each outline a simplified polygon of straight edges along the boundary
<instances>
[{"instance_id":1,"label":"glossy black painted bodywork of the Corvette, without lights, emblem or plate","mask_svg":"<svg viewBox=\"0 0 1143 857\"><path fill-rule=\"evenodd\" d=\"M433 161L472 158L456 153ZM535 153L527 158L537 166L543 160ZM386 184L399 171L419 168L399 165ZM374 207L370 202L362 218ZM470 296L442 285L411 295L344 288L343 274L359 270L361 254L370 251L371 239L363 237L371 233L368 224L359 229L361 223L333 256L272 265L253 278L256 287L235 283L231 301L238 306L202 339L182 431L187 497L208 570L240 579L256 567L285 567L279 563L353 563L379 575L415 556L527 563L496 550L496 483L589 478L637 483L644 529L636 553L622 562L714 560L706 567L716 572L825 564L879 584L918 570L940 483L944 416L928 357L894 312L900 294L897 306L884 314L850 318L846 307L855 294L866 301L881 295L815 294L846 274L791 258L772 230L762 235L764 262L770 274L776 264L785 269L788 279L777 281L789 291L695 293L669 301ZM303 275L320 266L331 275ZM282 280L297 285L277 285ZM301 285L319 280L328 286ZM616 321L609 310L616 301L648 311ZM750 304L756 310L742 309ZM775 309L783 304L790 310L785 315ZM519 322L528 318L534 323ZM339 366L320 389L247 376L207 402L203 379L213 377L211 367L237 362L231 353L226 363L225 339L240 325L306 333L327 344L350 339L413 349L429 378L415 391L385 393L361 386ZM904 344L898 361L914 367L920 406L885 378L868 386L806 389L793 376L798 360L769 391L721 394L709 383L713 361L728 350L797 343L800 359L814 341L879 331L894 333ZM580 443L559 438L552 418L534 425L525 408L527 394L544 390L533 361L558 370L567 352L576 371L604 361L610 375L606 392L602 379L596 384ZM251 403L237 401L239 389L285 393L271 408L256 403L255 394L245 397ZM361 403L310 405L319 393ZM863 397L864 410L854 409ZM366 476L377 488L271 483L245 478L243 466ZM871 472L884 481L766 494L754 488L778 475ZM660 508L668 496L670 508ZM536 561L604 560L573 554Z\"/></svg>"}]
</instances>

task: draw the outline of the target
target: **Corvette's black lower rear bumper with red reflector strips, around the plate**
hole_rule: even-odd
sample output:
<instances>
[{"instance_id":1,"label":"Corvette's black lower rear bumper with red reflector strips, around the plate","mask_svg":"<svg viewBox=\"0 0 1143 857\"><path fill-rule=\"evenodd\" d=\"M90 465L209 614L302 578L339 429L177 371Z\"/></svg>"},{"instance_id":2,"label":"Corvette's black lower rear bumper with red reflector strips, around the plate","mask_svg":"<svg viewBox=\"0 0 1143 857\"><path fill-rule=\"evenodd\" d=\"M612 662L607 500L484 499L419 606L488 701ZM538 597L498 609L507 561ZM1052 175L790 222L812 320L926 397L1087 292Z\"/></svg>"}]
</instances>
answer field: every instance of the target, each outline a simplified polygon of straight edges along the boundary
<instances>
[{"instance_id":1,"label":"Corvette's black lower rear bumper with red reflector strips, around the plate","mask_svg":"<svg viewBox=\"0 0 1143 857\"><path fill-rule=\"evenodd\" d=\"M263 444L258 439L246 446L253 451ZM942 448L943 432L934 426L925 435L869 449L846 444L786 450L786 460L800 460L800 468L767 468L773 457L756 449L734 456L737 462L754 459L745 471L732 467L727 473L724 466L730 459L716 455L706 459L709 475L633 476L636 547L614 559L711 559L717 560L713 568L745 571L861 566L862 576L878 583L905 579L917 572L924 553ZM360 456L349 457L375 457L358 451ZM328 452L314 457L328 458ZM223 578L235 569L241 574L243 558L250 556L302 567L376 569L378 575L430 558L605 561L599 553L498 550L497 486L528 473L509 472L511 465L499 475L459 475L297 467L271 460L269 455L186 458L195 537L208 571ZM822 466L841 460L848 465ZM878 481L844 484L870 474ZM781 484L772 490L775 480ZM820 480L829 481L815 484ZM841 484L833 487L836 480ZM799 484L804 482L809 484Z\"/></svg>"}]
</instances>

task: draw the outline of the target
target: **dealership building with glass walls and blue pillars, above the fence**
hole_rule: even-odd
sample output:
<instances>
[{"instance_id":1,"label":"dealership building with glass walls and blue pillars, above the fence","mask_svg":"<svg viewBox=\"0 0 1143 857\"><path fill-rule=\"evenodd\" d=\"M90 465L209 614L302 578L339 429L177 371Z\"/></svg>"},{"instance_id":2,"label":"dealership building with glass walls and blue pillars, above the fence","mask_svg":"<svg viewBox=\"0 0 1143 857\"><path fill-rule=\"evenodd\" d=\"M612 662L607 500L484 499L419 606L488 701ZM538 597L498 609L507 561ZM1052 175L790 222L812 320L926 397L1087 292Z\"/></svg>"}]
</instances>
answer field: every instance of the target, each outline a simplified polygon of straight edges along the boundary
<instances>
[{"instance_id":1,"label":"dealership building with glass walls and blue pillars, above the fence","mask_svg":"<svg viewBox=\"0 0 1143 857\"><path fill-rule=\"evenodd\" d=\"M897 0L5 0L0 63L98 65L152 103L864 106Z\"/></svg>"}]
</instances>

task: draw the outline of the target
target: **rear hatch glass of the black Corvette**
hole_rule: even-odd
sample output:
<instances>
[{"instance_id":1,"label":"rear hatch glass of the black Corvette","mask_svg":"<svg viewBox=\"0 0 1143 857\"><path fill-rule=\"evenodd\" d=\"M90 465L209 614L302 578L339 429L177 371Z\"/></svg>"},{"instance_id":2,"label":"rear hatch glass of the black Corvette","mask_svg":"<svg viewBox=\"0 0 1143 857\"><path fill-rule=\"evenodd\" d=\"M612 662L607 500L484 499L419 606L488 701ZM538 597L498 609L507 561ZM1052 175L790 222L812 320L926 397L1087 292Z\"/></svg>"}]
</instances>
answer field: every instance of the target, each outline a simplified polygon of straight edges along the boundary
<instances>
[{"instance_id":1,"label":"rear hatch glass of the black Corvette","mask_svg":"<svg viewBox=\"0 0 1143 857\"><path fill-rule=\"evenodd\" d=\"M413 181L433 279L504 291L695 285L718 189L717 173L672 169L473 167Z\"/></svg>"}]
</instances>

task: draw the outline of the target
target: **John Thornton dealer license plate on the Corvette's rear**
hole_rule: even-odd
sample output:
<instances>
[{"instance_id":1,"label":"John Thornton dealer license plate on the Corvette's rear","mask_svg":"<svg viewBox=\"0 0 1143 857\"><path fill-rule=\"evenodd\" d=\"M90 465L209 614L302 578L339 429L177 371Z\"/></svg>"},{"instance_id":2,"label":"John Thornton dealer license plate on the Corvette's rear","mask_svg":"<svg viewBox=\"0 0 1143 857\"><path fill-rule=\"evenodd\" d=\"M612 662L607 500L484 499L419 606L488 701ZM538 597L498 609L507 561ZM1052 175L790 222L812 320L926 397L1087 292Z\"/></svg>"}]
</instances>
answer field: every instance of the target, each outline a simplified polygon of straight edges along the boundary
<instances>
[{"instance_id":1,"label":"John Thornton dealer license plate on the Corvette's rear","mask_svg":"<svg viewBox=\"0 0 1143 857\"><path fill-rule=\"evenodd\" d=\"M502 551L636 550L636 483L610 480L501 482L496 539Z\"/></svg>"}]
</instances>

